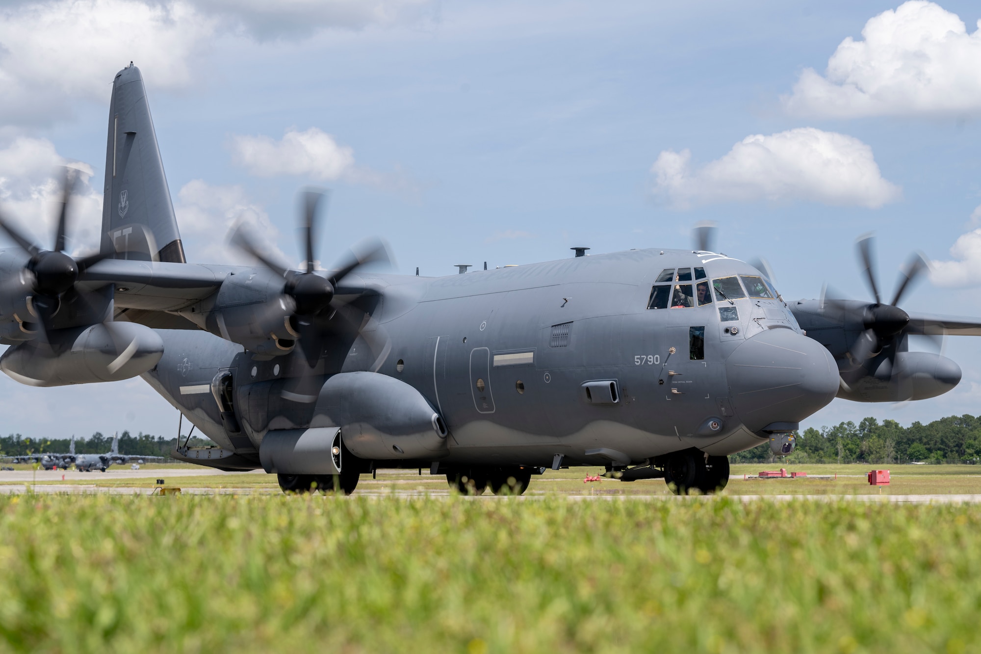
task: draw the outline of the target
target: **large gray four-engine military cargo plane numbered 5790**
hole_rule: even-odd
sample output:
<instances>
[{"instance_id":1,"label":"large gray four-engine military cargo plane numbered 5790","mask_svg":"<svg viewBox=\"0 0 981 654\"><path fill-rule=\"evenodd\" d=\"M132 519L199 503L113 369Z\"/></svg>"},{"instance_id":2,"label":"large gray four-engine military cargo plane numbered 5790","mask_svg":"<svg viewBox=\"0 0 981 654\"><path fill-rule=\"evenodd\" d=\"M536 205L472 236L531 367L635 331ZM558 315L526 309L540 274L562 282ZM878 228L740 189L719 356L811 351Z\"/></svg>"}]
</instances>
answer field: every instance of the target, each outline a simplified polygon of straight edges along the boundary
<instances>
[{"instance_id":1,"label":"large gray four-engine military cargo plane numbered 5790","mask_svg":"<svg viewBox=\"0 0 981 654\"><path fill-rule=\"evenodd\" d=\"M845 392L836 358L856 354L856 329L894 341L909 329L885 329L887 309L866 306L869 322L857 304L789 305L759 270L707 247L580 248L432 278L375 272L366 264L387 247L369 241L318 271L314 191L302 195L302 270L245 228L232 243L258 265L187 263L131 64L113 82L90 256L64 252L71 189L69 176L51 250L0 222L18 244L0 252L0 368L33 386L140 375L219 445L179 445L175 458L264 469L284 491L350 493L364 472L425 467L464 492L520 493L549 467L604 465L713 492L728 455L787 449L800 420ZM804 313L830 341L804 335ZM857 351L864 372L849 371L864 376L847 388L894 383L868 365L883 353L906 371L898 385L932 374L931 388L950 386L945 370L909 373L901 348L878 347Z\"/></svg>"}]
</instances>

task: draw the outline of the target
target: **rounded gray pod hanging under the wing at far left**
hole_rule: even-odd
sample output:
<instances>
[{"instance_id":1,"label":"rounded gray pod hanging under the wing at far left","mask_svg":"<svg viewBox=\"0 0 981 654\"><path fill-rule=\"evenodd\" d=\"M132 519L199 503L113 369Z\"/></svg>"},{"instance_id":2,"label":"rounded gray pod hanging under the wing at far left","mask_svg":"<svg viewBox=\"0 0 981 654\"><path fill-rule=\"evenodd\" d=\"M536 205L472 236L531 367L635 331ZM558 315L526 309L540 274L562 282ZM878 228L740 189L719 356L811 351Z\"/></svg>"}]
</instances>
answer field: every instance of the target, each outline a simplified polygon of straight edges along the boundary
<instances>
[{"instance_id":1,"label":"rounded gray pod hanging under the wing at far left","mask_svg":"<svg viewBox=\"0 0 981 654\"><path fill-rule=\"evenodd\" d=\"M28 386L90 384L140 375L164 354L160 336L132 322L53 330L48 341L11 347L0 357L0 369Z\"/></svg>"}]
</instances>

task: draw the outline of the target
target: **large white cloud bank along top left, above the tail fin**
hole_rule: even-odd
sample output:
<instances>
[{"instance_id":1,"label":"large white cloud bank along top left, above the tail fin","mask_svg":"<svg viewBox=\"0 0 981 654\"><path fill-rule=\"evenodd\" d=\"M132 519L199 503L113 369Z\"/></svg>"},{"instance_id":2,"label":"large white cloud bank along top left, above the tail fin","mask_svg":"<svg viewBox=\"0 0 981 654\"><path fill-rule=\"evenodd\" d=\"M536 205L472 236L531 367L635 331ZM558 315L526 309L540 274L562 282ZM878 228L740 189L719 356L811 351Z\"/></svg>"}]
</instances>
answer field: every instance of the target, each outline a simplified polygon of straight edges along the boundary
<instances>
[{"instance_id":1,"label":"large white cloud bank along top left, above the tail fin","mask_svg":"<svg viewBox=\"0 0 981 654\"><path fill-rule=\"evenodd\" d=\"M304 37L418 21L434 0L28 0L0 3L0 126L48 125L78 99L107 102L135 62L156 88L200 77L222 35Z\"/></svg>"}]
</instances>

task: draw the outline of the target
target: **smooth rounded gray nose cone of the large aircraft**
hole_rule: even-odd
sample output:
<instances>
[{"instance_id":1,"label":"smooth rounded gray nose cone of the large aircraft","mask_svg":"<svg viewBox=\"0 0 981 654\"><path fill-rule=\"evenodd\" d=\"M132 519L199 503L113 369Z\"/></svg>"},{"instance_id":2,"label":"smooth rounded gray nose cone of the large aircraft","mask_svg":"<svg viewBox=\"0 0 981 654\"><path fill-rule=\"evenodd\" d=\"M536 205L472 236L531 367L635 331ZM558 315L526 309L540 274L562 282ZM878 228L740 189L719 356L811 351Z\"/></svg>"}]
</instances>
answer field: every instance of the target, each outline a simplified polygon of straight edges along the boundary
<instances>
[{"instance_id":1,"label":"smooth rounded gray nose cone of the large aircraft","mask_svg":"<svg viewBox=\"0 0 981 654\"><path fill-rule=\"evenodd\" d=\"M749 338L726 359L729 398L749 431L800 422L838 394L838 366L817 341L790 329Z\"/></svg>"}]
</instances>

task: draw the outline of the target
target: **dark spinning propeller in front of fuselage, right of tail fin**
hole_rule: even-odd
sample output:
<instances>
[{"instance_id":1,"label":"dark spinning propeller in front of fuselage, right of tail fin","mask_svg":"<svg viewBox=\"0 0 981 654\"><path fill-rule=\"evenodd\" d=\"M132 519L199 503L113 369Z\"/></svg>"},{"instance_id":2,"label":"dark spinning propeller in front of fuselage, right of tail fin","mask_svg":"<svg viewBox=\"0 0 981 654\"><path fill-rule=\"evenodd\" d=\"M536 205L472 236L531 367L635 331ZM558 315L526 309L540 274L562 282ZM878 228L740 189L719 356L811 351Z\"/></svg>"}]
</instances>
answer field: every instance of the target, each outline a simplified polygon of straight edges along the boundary
<instances>
[{"instance_id":1,"label":"dark spinning propeller in front of fuselage, right of tail fin","mask_svg":"<svg viewBox=\"0 0 981 654\"><path fill-rule=\"evenodd\" d=\"M323 275L318 274L314 269L316 260L314 241L320 220L318 217L320 215L319 208L326 203L328 194L326 191L310 190L303 191L300 197L302 211L300 216L300 245L305 254L303 270L290 270L277 261L259 245L258 238L245 225L239 225L232 230L230 243L283 278L282 295L277 300L267 302L267 310L271 312L285 310L290 314L289 324L296 334L308 368L304 371L304 377L310 375L320 360L322 328L324 323L331 320L335 314L339 314L349 323L349 327L353 331L365 339L369 348L376 354L377 365L380 365L390 349L387 335L378 328L366 329L370 324L371 314L352 304L354 300L357 300L358 295L353 297L345 295L341 298L335 294L338 285L343 282L344 278L359 267L372 262L390 264L391 256L388 253L387 245L380 239L363 241L352 247L347 256L338 261L333 269L324 271L325 274ZM303 386L303 379L298 383ZM313 402L316 400L316 393L311 396L311 390L307 389L307 393L292 393L292 396L294 398L309 398L309 402Z\"/></svg>"}]
</instances>

